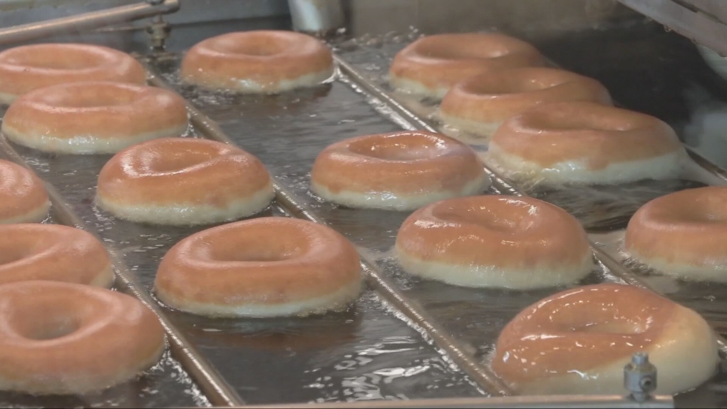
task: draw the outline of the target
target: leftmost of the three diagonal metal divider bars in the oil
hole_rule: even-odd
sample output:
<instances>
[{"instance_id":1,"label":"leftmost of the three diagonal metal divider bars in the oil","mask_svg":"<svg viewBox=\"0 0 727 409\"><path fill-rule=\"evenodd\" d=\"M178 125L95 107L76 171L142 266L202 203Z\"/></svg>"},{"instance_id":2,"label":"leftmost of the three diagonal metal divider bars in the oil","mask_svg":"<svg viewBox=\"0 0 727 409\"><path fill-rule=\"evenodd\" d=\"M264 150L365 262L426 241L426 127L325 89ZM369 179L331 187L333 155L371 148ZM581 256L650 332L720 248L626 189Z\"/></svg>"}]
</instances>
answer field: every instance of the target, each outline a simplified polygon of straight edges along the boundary
<instances>
[{"instance_id":1,"label":"leftmost of the three diagonal metal divider bars in the oil","mask_svg":"<svg viewBox=\"0 0 727 409\"><path fill-rule=\"evenodd\" d=\"M14 161L26 169L30 169L27 163L23 160L12 146L9 145L5 137L0 137L0 150L1 154L7 157L9 160ZM32 169L31 169L32 171ZM86 228L83 220L73 211L68 203L65 203L63 195L61 195L55 187L49 183L44 183L50 201L52 203L52 211L57 216L58 221L67 226L76 227L81 230L85 230L96 238L98 235ZM220 374L212 368L209 363L201 357L196 348L190 344L185 336L174 327L172 323L166 318L158 304L153 300L149 293L142 289L134 273L129 270L129 267L123 261L123 257L113 248L109 248L103 242L103 246L108 251L111 257L111 263L113 264L113 270L116 275L116 286L119 287L125 293L136 297L139 301L145 304L146 307L151 309L159 318L161 325L166 331L166 336L169 341L169 349L172 352L174 358L176 358L185 370L188 371L193 380L198 384L202 392L209 399L209 402L215 406L239 406L244 405L244 400L238 396L238 394L222 379Z\"/></svg>"}]
</instances>

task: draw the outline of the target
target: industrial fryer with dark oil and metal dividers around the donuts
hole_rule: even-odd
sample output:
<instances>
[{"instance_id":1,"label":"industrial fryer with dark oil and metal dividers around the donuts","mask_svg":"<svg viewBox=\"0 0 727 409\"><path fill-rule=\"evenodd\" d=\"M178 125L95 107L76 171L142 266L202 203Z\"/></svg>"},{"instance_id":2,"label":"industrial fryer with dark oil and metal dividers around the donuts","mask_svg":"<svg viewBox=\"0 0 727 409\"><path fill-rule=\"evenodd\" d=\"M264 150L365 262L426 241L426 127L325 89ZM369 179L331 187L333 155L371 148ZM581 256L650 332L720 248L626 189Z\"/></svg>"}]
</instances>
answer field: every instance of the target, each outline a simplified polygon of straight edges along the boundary
<instances>
[{"instance_id":1,"label":"industrial fryer with dark oil and metal dividers around the donuts","mask_svg":"<svg viewBox=\"0 0 727 409\"><path fill-rule=\"evenodd\" d=\"M357 246L368 286L343 312L276 319L209 319L169 309L151 291L165 252L202 227L124 222L93 203L111 155L41 153L0 138L0 157L45 182L48 223L97 235L112 256L116 290L161 318L169 351L134 381L88 396L0 392L9 407L265 406L350 408L671 408L727 405L720 371L693 391L623 396L515 396L488 365L502 327L558 289L458 288L419 280L392 248L406 212L351 209L308 192L316 155L340 139L401 129L447 132L435 102L393 92L387 70L419 36L502 31L534 44L550 64L601 81L624 108L667 121L692 158L678 179L563 189L520 186L494 169L487 193L529 195L584 224L596 268L579 285L624 283L662 293L727 331L727 286L651 275L622 255L630 216L667 193L727 185L727 4L707 0L8 0L0 1L0 46L102 44L132 53L153 86L188 102L185 137L226 142L256 155L276 182L258 216L328 224ZM296 30L334 51L334 81L277 95L206 92L180 82L186 49L232 31ZM4 113L7 107L0 108ZM486 145L472 142L486 151ZM721 336L720 336L721 337ZM721 339L721 338L720 338ZM722 343L723 352L727 345ZM658 365L657 365L658 370ZM627 376L627 380L629 377ZM638 383L638 382L637 382ZM628 382L627 382L628 386ZM648 391L647 391L648 392Z\"/></svg>"}]
</instances>

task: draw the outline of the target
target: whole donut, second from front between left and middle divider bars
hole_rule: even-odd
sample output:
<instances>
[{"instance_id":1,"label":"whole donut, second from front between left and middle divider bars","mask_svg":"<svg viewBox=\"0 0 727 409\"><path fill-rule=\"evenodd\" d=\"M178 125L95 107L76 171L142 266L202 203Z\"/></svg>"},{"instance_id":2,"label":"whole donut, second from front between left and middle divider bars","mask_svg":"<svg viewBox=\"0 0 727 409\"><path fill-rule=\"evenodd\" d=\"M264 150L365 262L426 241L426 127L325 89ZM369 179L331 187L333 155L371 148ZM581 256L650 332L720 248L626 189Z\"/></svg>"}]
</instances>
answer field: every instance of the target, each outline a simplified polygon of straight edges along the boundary
<instances>
[{"instance_id":1,"label":"whole donut, second from front between left and middle divider bars","mask_svg":"<svg viewBox=\"0 0 727 409\"><path fill-rule=\"evenodd\" d=\"M251 216L274 195L265 166L244 150L159 138L127 147L103 166L96 204L131 222L194 225Z\"/></svg>"}]
</instances>

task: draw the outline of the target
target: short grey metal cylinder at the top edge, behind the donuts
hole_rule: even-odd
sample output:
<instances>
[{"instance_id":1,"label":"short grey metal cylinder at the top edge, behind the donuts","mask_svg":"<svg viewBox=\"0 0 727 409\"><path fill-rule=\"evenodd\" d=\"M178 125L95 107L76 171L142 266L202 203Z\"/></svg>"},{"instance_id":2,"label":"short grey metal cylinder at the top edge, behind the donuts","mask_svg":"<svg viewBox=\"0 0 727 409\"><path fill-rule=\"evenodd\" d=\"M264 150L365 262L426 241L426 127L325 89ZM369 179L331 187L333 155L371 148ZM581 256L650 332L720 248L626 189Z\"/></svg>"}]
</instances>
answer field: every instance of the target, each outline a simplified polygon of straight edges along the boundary
<instances>
[{"instance_id":1,"label":"short grey metal cylinder at the top edge, behind the donuts","mask_svg":"<svg viewBox=\"0 0 727 409\"><path fill-rule=\"evenodd\" d=\"M305 33L332 33L342 28L341 0L288 0L293 29Z\"/></svg>"}]
</instances>

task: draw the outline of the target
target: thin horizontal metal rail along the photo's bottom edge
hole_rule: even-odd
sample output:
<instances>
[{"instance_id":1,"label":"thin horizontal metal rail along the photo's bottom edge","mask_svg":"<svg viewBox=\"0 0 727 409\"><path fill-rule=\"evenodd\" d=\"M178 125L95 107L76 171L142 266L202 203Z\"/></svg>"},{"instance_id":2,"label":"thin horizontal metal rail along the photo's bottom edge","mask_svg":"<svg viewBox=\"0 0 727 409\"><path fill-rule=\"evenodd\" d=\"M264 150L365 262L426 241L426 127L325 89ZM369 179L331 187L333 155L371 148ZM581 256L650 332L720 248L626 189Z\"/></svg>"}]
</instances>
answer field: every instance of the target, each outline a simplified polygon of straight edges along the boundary
<instances>
[{"instance_id":1,"label":"thin horizontal metal rail along the photo's bottom edge","mask_svg":"<svg viewBox=\"0 0 727 409\"><path fill-rule=\"evenodd\" d=\"M513 396L431 400L364 401L349 403L321 403L317 405L246 406L241 408L280 409L379 409L379 408L674 408L670 396L655 396L646 402L636 402L619 395L547 395Z\"/></svg>"}]
</instances>

